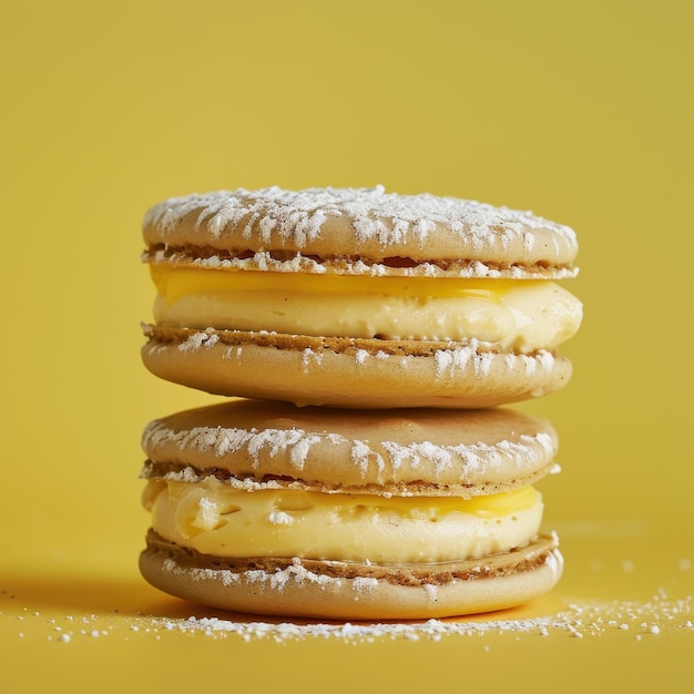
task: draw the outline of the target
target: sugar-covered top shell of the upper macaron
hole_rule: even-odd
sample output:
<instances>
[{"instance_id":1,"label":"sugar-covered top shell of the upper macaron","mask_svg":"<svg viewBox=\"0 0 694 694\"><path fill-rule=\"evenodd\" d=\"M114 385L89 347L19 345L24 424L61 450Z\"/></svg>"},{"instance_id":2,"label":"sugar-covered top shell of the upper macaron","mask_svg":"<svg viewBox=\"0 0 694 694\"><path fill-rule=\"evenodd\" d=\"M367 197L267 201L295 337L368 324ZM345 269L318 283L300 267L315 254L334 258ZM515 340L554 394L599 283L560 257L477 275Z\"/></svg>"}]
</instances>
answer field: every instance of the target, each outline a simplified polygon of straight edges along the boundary
<instances>
[{"instance_id":1,"label":"sugar-covered top shell of the upper macaron","mask_svg":"<svg viewBox=\"0 0 694 694\"><path fill-rule=\"evenodd\" d=\"M523 268L534 267L569 277L575 274L572 263L578 252L570 227L530 212L427 193L399 195L382 186L238 188L172 197L147 211L143 234L147 261L182 262L188 255L198 264L236 267L237 254L252 253L259 254L252 258L258 268L265 264L289 272L296 272L297 257L310 255L350 258L341 271L354 274L391 272L392 258L407 258L430 264L428 273L462 262L470 276L499 268L522 276ZM294 257L283 256L277 263L273 252ZM326 271L310 261L298 267Z\"/></svg>"}]
</instances>

